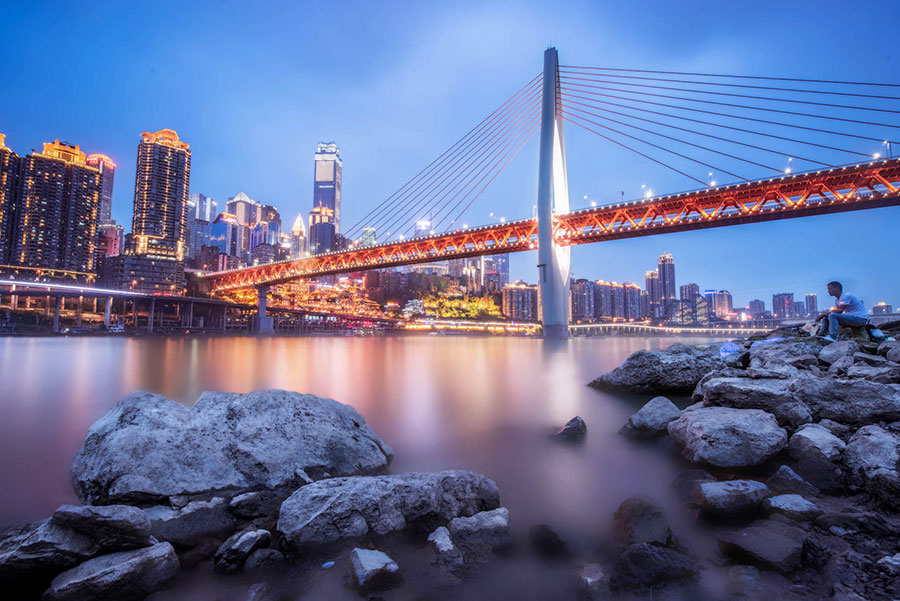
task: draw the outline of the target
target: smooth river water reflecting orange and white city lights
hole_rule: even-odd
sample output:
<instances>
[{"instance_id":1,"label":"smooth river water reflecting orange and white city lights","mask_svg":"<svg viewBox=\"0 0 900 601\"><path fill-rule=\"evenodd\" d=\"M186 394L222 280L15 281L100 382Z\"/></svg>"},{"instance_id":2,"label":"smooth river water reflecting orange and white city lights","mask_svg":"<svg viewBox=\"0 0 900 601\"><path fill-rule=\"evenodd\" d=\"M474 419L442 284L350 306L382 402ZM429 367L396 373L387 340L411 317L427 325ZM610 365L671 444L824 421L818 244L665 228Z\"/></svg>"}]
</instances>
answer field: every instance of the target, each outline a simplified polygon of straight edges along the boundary
<instances>
[{"instance_id":1,"label":"smooth river water reflecting orange and white city lights","mask_svg":"<svg viewBox=\"0 0 900 601\"><path fill-rule=\"evenodd\" d=\"M136 389L191 404L204 390L283 388L353 405L394 447L392 472L468 468L493 478L520 524L607 523L626 497L674 504L677 466L616 435L649 397L586 386L638 349L706 339L0 339L0 522L77 502L72 458L90 425ZM574 415L583 447L548 432Z\"/></svg>"}]
</instances>

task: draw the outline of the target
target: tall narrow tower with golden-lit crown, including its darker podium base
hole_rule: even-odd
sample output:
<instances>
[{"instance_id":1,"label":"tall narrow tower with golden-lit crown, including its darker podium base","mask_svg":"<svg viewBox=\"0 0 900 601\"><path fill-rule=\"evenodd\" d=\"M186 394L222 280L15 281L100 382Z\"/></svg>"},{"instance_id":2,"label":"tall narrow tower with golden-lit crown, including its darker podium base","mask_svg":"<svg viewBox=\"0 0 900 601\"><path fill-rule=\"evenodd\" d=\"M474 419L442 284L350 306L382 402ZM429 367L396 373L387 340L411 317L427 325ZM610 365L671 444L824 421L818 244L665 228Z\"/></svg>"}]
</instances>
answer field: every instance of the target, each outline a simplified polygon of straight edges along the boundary
<instances>
[{"instance_id":1,"label":"tall narrow tower with golden-lit crown, including its darker podium base","mask_svg":"<svg viewBox=\"0 0 900 601\"><path fill-rule=\"evenodd\" d=\"M107 285L182 294L188 247L189 145L171 129L144 132L138 143L134 217L125 254L107 261Z\"/></svg>"}]
</instances>

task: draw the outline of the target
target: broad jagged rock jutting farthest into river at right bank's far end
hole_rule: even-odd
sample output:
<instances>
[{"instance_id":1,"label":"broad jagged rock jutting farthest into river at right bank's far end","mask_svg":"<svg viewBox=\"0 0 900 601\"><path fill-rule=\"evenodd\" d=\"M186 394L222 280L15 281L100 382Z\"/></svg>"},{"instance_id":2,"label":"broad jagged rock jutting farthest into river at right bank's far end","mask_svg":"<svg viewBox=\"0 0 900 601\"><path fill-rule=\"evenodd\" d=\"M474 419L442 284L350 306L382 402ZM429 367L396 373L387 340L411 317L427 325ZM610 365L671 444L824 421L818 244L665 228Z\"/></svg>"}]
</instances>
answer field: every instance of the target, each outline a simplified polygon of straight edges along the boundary
<instances>
[{"instance_id":1,"label":"broad jagged rock jutting farthest into river at right bank's far end","mask_svg":"<svg viewBox=\"0 0 900 601\"><path fill-rule=\"evenodd\" d=\"M632 353L625 363L590 385L638 392L690 393L704 375L719 367L722 367L719 345L673 344L665 350Z\"/></svg>"}]
</instances>

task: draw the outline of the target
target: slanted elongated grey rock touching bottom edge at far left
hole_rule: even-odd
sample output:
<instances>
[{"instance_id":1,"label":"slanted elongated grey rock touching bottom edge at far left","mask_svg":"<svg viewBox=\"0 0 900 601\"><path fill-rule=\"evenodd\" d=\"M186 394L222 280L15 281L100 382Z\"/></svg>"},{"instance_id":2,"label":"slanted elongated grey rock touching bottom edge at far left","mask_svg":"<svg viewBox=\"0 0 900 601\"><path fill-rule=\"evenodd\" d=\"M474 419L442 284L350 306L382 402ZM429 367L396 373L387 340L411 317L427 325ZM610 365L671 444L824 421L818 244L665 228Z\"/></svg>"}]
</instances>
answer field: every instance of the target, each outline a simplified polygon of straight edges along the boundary
<instances>
[{"instance_id":1,"label":"slanted elongated grey rock touching bottom edge at far left","mask_svg":"<svg viewBox=\"0 0 900 601\"><path fill-rule=\"evenodd\" d=\"M162 587L178 571L169 543L119 551L90 559L63 572L44 593L48 601L138 601Z\"/></svg>"}]
</instances>

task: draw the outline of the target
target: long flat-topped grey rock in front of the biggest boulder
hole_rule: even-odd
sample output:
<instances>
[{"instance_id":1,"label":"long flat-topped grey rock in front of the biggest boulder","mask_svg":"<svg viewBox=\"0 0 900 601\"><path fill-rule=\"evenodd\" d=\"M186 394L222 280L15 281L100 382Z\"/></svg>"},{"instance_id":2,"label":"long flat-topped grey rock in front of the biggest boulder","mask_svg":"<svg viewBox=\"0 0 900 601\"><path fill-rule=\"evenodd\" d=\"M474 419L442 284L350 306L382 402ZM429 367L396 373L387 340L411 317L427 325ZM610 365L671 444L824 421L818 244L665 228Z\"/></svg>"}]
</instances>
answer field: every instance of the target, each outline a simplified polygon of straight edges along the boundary
<instances>
[{"instance_id":1,"label":"long flat-topped grey rock in front of the biggest boulder","mask_svg":"<svg viewBox=\"0 0 900 601\"><path fill-rule=\"evenodd\" d=\"M411 526L429 531L499 505L497 485L470 471L333 478L288 497L278 532L290 550L300 551Z\"/></svg>"}]
</instances>

